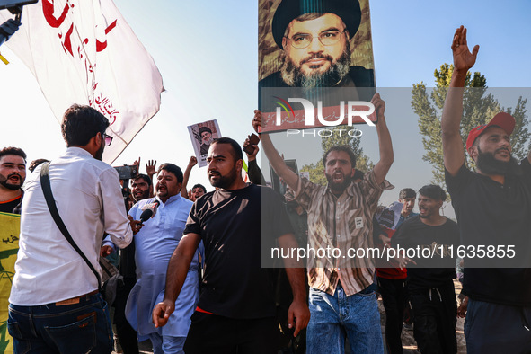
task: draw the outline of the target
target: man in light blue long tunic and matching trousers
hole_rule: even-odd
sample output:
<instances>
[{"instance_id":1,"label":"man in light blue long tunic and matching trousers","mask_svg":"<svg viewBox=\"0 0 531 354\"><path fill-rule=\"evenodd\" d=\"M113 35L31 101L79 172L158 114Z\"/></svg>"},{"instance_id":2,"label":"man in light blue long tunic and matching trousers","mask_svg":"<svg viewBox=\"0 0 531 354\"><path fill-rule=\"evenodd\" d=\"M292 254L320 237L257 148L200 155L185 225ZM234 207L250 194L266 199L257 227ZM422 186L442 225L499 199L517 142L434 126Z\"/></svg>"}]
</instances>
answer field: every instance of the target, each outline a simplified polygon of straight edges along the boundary
<instances>
[{"instance_id":1,"label":"man in light blue long tunic and matching trousers","mask_svg":"<svg viewBox=\"0 0 531 354\"><path fill-rule=\"evenodd\" d=\"M137 330L138 341L149 339L155 353L181 353L190 327L190 316L199 297L199 252L197 247L190 256L190 269L184 274L181 296L173 302L177 311L168 326L155 328L151 312L162 301L166 270L173 250L181 241L182 231L192 202L181 197L182 171L175 164L162 164L157 174L152 199L140 200L129 210L136 220L146 209L155 210L155 216L136 228L135 262L137 284L131 290L126 305L126 317Z\"/></svg>"}]
</instances>

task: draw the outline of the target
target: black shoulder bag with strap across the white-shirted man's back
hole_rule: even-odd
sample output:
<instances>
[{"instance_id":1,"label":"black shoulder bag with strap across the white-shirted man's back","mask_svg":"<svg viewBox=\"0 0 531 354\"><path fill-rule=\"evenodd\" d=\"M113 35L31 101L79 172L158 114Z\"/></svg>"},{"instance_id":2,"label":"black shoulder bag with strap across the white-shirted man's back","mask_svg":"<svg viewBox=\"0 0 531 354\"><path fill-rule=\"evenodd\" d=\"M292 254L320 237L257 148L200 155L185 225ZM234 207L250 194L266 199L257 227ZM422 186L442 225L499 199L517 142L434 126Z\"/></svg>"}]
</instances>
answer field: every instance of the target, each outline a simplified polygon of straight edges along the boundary
<instances>
[{"instance_id":1,"label":"black shoulder bag with strap across the white-shirted man's back","mask_svg":"<svg viewBox=\"0 0 531 354\"><path fill-rule=\"evenodd\" d=\"M116 290L119 286L119 283L123 284L123 278L119 274L119 270L112 265L111 261L100 257L100 266L103 270L103 279L100 279L100 274L94 269L93 264L86 258L84 252L79 249L74 239L68 232L68 229L66 229L63 219L61 219L59 216L59 211L51 191L51 184L49 182L49 162L42 164L42 168L40 169L40 185L42 187L42 192L44 193L44 198L46 199L46 204L49 208L49 213L56 222L59 230L61 230L61 233L65 235L68 243L72 245L75 251L79 253L81 258L83 258L88 267L93 271L96 279L98 279L98 290L102 294L103 299L107 302L107 304L112 305L114 298L116 297Z\"/></svg>"}]
</instances>

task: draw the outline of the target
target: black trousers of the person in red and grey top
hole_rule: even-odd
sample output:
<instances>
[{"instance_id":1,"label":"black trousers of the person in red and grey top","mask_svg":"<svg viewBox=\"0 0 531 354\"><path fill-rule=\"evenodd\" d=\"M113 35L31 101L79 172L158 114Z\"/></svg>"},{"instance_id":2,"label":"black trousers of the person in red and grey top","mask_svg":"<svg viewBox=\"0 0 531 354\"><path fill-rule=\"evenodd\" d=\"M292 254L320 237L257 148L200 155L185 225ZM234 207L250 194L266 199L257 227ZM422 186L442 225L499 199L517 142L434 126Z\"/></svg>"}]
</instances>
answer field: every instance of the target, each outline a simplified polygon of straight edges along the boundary
<instances>
[{"instance_id":1,"label":"black trousers of the person in red and grey top","mask_svg":"<svg viewBox=\"0 0 531 354\"><path fill-rule=\"evenodd\" d=\"M402 323L403 310L407 301L406 279L385 279L377 277L378 292L382 295L385 308L385 342L389 354L403 354Z\"/></svg>"}]
</instances>

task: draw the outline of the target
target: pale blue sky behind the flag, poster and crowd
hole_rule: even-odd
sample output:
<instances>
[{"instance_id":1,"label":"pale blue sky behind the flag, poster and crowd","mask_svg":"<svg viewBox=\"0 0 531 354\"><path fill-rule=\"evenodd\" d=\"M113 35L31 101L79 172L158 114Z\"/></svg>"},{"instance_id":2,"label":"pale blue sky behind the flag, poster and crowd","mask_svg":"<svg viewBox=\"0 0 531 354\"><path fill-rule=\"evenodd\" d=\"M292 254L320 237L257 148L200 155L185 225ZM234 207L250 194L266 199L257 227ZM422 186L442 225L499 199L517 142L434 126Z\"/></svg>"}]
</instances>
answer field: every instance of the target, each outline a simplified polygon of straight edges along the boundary
<instances>
[{"instance_id":1,"label":"pale blue sky behind the flag, poster and crowd","mask_svg":"<svg viewBox=\"0 0 531 354\"><path fill-rule=\"evenodd\" d=\"M116 0L115 4L155 59L167 90L161 111L115 165L131 164L141 155L143 164L156 159L184 169L193 153L186 126L208 119L217 119L225 136L243 142L252 132L250 121L258 102L257 1ZM423 151L416 117L407 111L409 88L420 82L432 85L434 69L451 62L450 43L461 24L468 28L469 44L481 46L473 70L482 72L490 87L529 87L531 2L373 0L370 8L376 84L383 94L393 96L383 97L395 151L389 181L396 190L382 199L388 204L398 190L418 190L431 178L430 166L420 161ZM22 147L29 161L59 155L65 146L58 122L36 80L9 49L2 46L0 52L12 62L0 63L0 145ZM521 91L518 94L529 90ZM514 102L508 99L505 105ZM376 161L376 135L365 129L362 145ZM283 151L286 158L315 160L307 153L290 156L296 155L296 146L292 147L293 151ZM191 182L197 181L211 188L205 168L194 168Z\"/></svg>"}]
</instances>

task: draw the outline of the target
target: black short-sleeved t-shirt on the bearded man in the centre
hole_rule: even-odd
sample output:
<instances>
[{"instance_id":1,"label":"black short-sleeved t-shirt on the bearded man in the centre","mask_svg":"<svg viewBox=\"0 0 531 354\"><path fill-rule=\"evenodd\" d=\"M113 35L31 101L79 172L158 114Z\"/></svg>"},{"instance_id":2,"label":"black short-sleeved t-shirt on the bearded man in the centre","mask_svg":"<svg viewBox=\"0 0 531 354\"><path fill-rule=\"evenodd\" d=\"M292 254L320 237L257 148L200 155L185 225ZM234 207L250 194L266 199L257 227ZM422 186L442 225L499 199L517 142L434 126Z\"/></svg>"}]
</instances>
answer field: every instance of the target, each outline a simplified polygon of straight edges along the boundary
<instances>
[{"instance_id":1,"label":"black short-sleeved t-shirt on the bearded man in the centre","mask_svg":"<svg viewBox=\"0 0 531 354\"><path fill-rule=\"evenodd\" d=\"M276 239L293 233L277 193L254 184L209 192L191 208L190 233L205 245L199 308L229 318L275 315L274 279L262 268L262 253L270 256Z\"/></svg>"}]
</instances>

